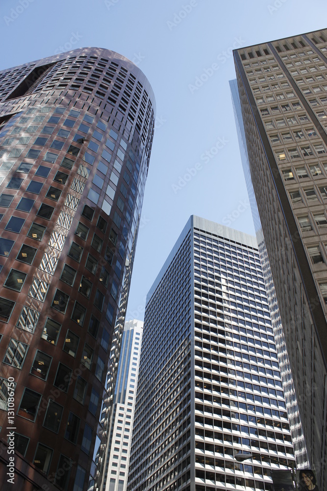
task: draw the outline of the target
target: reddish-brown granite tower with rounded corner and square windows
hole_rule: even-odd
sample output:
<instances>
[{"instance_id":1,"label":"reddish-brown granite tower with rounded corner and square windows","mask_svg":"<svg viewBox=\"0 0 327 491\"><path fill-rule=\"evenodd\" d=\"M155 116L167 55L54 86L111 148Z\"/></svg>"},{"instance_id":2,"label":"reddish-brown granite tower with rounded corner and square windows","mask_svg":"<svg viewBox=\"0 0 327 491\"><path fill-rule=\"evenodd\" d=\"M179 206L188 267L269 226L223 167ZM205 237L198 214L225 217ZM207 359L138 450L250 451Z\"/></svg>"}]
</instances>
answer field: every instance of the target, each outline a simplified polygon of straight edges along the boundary
<instances>
[{"instance_id":1,"label":"reddish-brown granite tower with rounded corner and square windows","mask_svg":"<svg viewBox=\"0 0 327 491\"><path fill-rule=\"evenodd\" d=\"M17 489L85 491L103 475L154 97L124 56L85 48L2 71L0 100L0 437L13 378Z\"/></svg>"}]
</instances>

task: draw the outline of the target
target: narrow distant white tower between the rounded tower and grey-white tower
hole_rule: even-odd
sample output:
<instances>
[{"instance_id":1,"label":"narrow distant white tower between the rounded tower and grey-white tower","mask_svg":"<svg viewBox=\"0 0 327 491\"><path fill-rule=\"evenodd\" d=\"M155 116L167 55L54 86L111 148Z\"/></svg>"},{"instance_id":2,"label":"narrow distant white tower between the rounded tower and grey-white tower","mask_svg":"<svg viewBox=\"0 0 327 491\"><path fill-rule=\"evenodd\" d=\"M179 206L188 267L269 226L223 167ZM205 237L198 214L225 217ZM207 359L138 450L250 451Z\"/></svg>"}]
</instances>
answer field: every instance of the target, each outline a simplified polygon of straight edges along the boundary
<instances>
[{"instance_id":1,"label":"narrow distant white tower between the rounded tower and grey-white tower","mask_svg":"<svg viewBox=\"0 0 327 491\"><path fill-rule=\"evenodd\" d=\"M105 470L105 491L126 491L143 322L127 321L115 386Z\"/></svg>"}]
</instances>

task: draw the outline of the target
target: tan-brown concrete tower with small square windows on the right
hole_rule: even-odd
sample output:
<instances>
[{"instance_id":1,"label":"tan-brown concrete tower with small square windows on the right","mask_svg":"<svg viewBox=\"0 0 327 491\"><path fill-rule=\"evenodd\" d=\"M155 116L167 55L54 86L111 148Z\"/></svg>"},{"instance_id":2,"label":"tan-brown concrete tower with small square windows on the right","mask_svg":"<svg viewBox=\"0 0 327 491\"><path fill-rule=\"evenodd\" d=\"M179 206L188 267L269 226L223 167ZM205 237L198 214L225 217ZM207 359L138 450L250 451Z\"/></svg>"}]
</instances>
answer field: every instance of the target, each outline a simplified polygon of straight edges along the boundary
<instances>
[{"instance_id":1,"label":"tan-brown concrete tower with small square windows on the right","mask_svg":"<svg viewBox=\"0 0 327 491\"><path fill-rule=\"evenodd\" d=\"M327 479L326 55L326 29L234 51L252 185L309 463L321 489Z\"/></svg>"}]
</instances>

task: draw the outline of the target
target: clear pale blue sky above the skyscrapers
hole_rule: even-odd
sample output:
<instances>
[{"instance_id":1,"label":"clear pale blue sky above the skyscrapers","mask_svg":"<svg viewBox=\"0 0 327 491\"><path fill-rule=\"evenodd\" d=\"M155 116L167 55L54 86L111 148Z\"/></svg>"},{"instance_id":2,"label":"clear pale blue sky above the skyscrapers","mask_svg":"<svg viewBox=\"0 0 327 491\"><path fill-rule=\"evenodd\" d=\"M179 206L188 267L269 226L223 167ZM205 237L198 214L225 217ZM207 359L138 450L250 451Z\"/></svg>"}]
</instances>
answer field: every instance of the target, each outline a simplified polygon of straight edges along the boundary
<instances>
[{"instance_id":1,"label":"clear pale blue sky above the skyscrapers","mask_svg":"<svg viewBox=\"0 0 327 491\"><path fill-rule=\"evenodd\" d=\"M127 318L143 320L190 215L254 234L228 85L232 48L324 28L326 19L326 0L0 1L0 69L96 46L134 61L152 85L157 121Z\"/></svg>"}]
</instances>

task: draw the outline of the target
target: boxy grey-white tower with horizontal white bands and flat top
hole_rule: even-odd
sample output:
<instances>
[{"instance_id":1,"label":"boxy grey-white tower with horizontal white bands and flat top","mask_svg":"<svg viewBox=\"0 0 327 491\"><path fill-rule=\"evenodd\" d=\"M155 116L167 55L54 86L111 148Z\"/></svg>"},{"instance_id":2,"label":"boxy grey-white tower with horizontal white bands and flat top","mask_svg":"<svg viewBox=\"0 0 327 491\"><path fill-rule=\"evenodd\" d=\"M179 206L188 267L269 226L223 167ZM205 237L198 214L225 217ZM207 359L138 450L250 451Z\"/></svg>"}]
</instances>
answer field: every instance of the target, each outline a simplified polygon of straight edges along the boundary
<instances>
[{"instance_id":1,"label":"boxy grey-white tower with horizontal white bands and flat top","mask_svg":"<svg viewBox=\"0 0 327 491\"><path fill-rule=\"evenodd\" d=\"M256 240L191 216L147 297L127 490L273 491L294 463Z\"/></svg>"}]
</instances>

